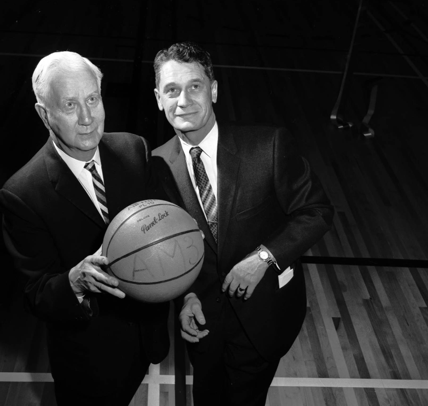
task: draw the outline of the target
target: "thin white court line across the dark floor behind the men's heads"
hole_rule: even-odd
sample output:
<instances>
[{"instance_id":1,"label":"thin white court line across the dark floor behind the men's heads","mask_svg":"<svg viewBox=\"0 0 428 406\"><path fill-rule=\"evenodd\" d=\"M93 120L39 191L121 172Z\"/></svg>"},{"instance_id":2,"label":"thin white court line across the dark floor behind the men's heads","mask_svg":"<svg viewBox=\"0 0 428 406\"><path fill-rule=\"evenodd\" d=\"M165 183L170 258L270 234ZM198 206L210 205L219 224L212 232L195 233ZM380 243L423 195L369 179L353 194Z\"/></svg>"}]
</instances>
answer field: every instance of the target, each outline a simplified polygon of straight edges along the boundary
<instances>
[{"instance_id":1,"label":"thin white court line across the dark floor behind the men's heads","mask_svg":"<svg viewBox=\"0 0 428 406\"><path fill-rule=\"evenodd\" d=\"M46 55L42 54L18 54L11 52L0 52L0 56L26 56L33 58L43 58ZM93 61L107 61L107 62L129 62L133 63L133 59L115 59L115 58L96 58L89 57L89 60ZM142 60L141 63L153 64L153 61ZM213 65L214 67L226 67L230 69L250 69L256 71L280 71L280 72L301 72L301 73L327 73L333 75L343 75L343 71L322 71L317 69L296 69L291 67L265 67L265 66L240 66L240 65ZM402 79L428 79L426 76L415 76L415 75L395 75L388 73L372 73L372 72L352 72L353 75L358 76L381 76L389 78L402 78Z\"/></svg>"}]
</instances>

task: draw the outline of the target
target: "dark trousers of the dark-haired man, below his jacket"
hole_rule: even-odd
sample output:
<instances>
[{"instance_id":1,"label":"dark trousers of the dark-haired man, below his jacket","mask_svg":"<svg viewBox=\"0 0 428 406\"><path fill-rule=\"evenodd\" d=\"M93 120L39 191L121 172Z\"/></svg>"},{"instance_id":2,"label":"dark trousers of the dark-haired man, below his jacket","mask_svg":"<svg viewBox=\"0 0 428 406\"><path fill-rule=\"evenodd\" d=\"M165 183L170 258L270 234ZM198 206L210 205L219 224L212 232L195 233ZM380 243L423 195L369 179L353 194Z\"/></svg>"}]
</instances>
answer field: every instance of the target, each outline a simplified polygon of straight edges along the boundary
<instances>
[{"instance_id":1,"label":"dark trousers of the dark-haired man, below his jacket","mask_svg":"<svg viewBox=\"0 0 428 406\"><path fill-rule=\"evenodd\" d=\"M229 301L220 319L207 351L188 345L195 406L264 406L280 359L267 362L258 353Z\"/></svg>"}]
</instances>

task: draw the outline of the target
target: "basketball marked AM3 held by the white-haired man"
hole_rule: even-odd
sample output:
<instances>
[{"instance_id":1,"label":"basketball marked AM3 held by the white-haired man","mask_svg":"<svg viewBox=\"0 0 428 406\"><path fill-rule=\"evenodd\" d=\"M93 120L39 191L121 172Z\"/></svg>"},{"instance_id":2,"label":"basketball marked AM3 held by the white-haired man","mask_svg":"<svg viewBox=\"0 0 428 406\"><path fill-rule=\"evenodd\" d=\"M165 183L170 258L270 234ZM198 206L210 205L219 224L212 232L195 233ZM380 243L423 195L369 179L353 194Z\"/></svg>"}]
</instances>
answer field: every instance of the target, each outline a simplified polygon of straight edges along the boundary
<instances>
[{"instance_id":1,"label":"basketball marked AM3 held by the white-haired man","mask_svg":"<svg viewBox=\"0 0 428 406\"><path fill-rule=\"evenodd\" d=\"M103 240L107 273L129 297L167 302L193 283L204 261L204 240L196 221L164 200L143 200L123 209Z\"/></svg>"}]
</instances>

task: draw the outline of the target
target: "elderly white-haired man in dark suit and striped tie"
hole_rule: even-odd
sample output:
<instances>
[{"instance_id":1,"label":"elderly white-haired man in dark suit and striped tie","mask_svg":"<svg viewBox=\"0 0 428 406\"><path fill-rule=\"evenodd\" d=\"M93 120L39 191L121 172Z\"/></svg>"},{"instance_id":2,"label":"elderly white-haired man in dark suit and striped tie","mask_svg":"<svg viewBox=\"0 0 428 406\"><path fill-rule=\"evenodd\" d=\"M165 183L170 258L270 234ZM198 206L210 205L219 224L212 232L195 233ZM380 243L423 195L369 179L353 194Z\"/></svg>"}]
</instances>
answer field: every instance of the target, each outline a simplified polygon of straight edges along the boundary
<instances>
[{"instance_id":1,"label":"elderly white-haired man in dark suit and striped tie","mask_svg":"<svg viewBox=\"0 0 428 406\"><path fill-rule=\"evenodd\" d=\"M0 190L5 242L29 277L26 308L46 321L58 406L127 406L169 349L168 303L125 298L103 270L109 221L165 197L146 140L104 133L101 78L74 52L40 60L35 108L50 137Z\"/></svg>"}]
</instances>

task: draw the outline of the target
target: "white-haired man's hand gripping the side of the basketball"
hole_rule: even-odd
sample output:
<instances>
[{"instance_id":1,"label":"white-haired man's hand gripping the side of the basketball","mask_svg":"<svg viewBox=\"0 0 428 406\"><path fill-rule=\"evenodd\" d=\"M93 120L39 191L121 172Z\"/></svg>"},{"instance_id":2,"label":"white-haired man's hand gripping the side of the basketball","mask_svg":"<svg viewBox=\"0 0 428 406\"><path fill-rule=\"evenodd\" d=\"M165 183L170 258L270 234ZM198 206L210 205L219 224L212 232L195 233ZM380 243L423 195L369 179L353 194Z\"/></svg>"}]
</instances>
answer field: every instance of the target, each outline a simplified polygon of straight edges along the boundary
<instances>
[{"instance_id":1,"label":"white-haired man's hand gripping the side of the basketball","mask_svg":"<svg viewBox=\"0 0 428 406\"><path fill-rule=\"evenodd\" d=\"M83 261L71 268L69 273L70 285L76 296L90 292L107 292L123 299L124 292L118 289L119 281L106 274L101 266L107 265L108 259L101 255L89 255Z\"/></svg>"}]
</instances>

